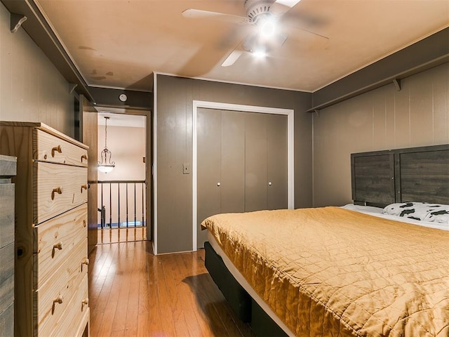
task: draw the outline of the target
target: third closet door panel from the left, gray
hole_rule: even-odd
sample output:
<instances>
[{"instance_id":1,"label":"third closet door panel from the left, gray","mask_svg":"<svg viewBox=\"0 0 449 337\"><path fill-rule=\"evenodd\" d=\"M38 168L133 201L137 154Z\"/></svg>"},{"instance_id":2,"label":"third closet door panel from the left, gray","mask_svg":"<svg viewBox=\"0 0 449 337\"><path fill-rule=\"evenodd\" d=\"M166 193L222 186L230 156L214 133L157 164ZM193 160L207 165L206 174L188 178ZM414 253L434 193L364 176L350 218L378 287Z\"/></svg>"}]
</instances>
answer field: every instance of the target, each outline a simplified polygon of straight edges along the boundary
<instances>
[{"instance_id":1,"label":"third closet door panel from the left, gray","mask_svg":"<svg viewBox=\"0 0 449 337\"><path fill-rule=\"evenodd\" d=\"M267 209L267 115L245 114L245 211Z\"/></svg>"}]
</instances>

